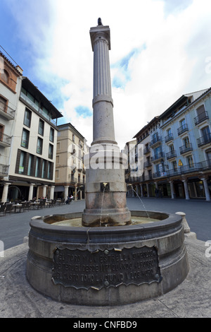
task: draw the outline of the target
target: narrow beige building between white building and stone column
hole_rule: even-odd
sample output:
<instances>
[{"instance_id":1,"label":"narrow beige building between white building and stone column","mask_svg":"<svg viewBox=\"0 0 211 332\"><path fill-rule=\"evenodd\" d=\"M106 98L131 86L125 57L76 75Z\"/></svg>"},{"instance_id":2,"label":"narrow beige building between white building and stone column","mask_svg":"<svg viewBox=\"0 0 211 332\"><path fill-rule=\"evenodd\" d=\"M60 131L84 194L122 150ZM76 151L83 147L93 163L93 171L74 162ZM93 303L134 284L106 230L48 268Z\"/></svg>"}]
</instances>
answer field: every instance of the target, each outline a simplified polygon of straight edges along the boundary
<instances>
[{"instance_id":1,"label":"narrow beige building between white building and stone column","mask_svg":"<svg viewBox=\"0 0 211 332\"><path fill-rule=\"evenodd\" d=\"M86 170L83 158L89 147L82 134L72 124L61 124L58 128L56 150L56 198L74 196L84 198Z\"/></svg>"}]
</instances>

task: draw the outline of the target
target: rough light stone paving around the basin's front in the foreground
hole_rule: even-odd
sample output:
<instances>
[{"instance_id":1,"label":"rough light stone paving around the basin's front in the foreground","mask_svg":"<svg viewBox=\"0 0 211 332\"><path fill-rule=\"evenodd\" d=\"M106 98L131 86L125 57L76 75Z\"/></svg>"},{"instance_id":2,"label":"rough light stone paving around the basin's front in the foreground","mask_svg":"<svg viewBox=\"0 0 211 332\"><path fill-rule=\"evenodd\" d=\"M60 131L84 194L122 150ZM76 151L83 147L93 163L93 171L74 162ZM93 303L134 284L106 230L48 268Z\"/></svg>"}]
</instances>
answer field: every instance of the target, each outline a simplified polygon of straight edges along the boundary
<instances>
[{"instance_id":1,"label":"rough light stone paving around the basin's front in the foreground","mask_svg":"<svg viewBox=\"0 0 211 332\"><path fill-rule=\"evenodd\" d=\"M205 242L187 239L190 271L186 280L162 297L120 307L85 307L51 300L25 278L27 243L0 257L0 318L205 318L211 317L211 257Z\"/></svg>"}]
</instances>

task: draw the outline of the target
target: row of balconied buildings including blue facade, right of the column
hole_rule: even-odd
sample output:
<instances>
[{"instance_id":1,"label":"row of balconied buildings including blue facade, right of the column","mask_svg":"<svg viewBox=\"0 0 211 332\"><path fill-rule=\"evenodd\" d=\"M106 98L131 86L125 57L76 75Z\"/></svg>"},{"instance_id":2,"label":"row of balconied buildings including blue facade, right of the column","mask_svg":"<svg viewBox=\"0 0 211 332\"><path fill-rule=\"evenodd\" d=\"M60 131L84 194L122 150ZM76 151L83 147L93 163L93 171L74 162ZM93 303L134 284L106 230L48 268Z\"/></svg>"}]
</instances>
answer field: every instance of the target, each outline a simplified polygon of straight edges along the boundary
<instances>
[{"instance_id":1,"label":"row of balconied buildings including blue facade, right of the column","mask_svg":"<svg viewBox=\"0 0 211 332\"><path fill-rule=\"evenodd\" d=\"M210 201L210 119L206 89L182 95L134 136L144 146L143 177L133 182L139 194Z\"/></svg>"}]
</instances>

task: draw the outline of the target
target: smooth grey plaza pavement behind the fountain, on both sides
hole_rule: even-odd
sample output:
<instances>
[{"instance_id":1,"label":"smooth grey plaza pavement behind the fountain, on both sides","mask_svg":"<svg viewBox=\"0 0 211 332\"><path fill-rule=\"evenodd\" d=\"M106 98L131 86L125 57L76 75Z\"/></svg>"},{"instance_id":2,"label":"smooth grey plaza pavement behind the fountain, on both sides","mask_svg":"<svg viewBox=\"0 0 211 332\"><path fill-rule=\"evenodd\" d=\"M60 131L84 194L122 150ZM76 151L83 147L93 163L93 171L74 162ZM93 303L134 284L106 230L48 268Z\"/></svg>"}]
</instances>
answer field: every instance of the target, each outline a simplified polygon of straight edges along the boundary
<instances>
[{"instance_id":1,"label":"smooth grey plaza pavement behind the fountain, on both sides","mask_svg":"<svg viewBox=\"0 0 211 332\"><path fill-rule=\"evenodd\" d=\"M191 232L196 232L197 239L211 240L211 203L206 201L186 201L185 199L170 198L127 198L129 210L165 211L186 213ZM0 240L4 242L4 249L15 247L23 243L30 231L30 220L34 215L51 215L84 211L85 201L73 201L70 205L42 208L40 210L11 213L0 216Z\"/></svg>"}]
</instances>

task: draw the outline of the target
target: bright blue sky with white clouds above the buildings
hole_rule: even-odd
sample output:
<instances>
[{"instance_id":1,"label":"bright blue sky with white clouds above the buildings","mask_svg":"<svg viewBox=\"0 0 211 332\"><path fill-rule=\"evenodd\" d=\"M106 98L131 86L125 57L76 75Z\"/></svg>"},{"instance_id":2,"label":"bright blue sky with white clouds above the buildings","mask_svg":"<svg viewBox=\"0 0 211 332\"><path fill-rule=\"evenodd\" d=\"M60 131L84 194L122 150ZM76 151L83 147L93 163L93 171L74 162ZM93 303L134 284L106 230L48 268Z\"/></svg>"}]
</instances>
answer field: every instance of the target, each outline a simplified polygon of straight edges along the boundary
<instances>
[{"instance_id":1,"label":"bright blue sky with white clouds above the buildings","mask_svg":"<svg viewBox=\"0 0 211 332\"><path fill-rule=\"evenodd\" d=\"M181 95L211 86L210 0L0 0L0 45L90 145L89 30L110 27L120 148ZM0 47L0 50L1 50Z\"/></svg>"}]
</instances>

